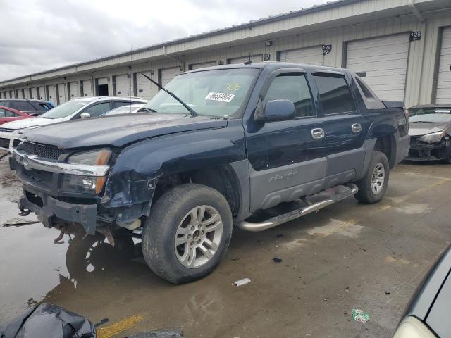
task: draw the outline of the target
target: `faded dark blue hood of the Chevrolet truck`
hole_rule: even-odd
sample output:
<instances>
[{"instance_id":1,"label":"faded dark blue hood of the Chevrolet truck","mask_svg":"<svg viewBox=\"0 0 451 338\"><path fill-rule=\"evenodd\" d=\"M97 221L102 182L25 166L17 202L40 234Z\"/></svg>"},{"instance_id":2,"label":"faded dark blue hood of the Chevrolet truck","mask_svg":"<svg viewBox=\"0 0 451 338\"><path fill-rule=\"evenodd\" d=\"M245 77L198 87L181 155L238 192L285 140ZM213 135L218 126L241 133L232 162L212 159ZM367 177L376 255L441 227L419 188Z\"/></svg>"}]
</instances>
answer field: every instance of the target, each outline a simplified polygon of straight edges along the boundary
<instances>
[{"instance_id":1,"label":"faded dark blue hood of the Chevrolet truck","mask_svg":"<svg viewBox=\"0 0 451 338\"><path fill-rule=\"evenodd\" d=\"M226 127L226 120L185 114L137 113L72 120L28 130L30 142L51 144L60 149L87 146L124 146L150 137Z\"/></svg>"}]
</instances>

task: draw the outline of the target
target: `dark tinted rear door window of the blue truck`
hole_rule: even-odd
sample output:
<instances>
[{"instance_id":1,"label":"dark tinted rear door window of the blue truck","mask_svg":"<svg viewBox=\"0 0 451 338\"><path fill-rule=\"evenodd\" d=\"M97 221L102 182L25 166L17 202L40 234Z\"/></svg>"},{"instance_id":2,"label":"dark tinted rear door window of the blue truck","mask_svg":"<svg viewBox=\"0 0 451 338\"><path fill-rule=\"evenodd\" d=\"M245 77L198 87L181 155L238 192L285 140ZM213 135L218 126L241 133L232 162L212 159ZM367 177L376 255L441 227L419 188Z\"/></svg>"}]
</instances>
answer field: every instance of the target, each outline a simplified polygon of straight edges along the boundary
<instances>
[{"instance_id":1,"label":"dark tinted rear door window of the blue truck","mask_svg":"<svg viewBox=\"0 0 451 338\"><path fill-rule=\"evenodd\" d=\"M314 75L323 114L350 113L355 111L354 100L345 77L340 75Z\"/></svg>"}]
</instances>

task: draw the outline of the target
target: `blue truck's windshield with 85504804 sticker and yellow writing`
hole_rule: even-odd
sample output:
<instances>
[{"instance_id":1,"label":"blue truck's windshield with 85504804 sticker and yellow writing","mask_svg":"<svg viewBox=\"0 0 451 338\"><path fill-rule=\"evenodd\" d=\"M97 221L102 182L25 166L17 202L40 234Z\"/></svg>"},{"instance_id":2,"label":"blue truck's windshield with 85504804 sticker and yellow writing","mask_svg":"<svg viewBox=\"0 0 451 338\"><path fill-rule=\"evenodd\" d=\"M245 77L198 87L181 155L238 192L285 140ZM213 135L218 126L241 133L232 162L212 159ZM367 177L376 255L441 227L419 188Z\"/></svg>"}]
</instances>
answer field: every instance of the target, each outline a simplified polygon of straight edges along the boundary
<instances>
[{"instance_id":1,"label":"blue truck's windshield with 85504804 sticker and yellow writing","mask_svg":"<svg viewBox=\"0 0 451 338\"><path fill-rule=\"evenodd\" d=\"M166 89L199 115L226 118L238 113L258 73L255 68L188 73L175 77ZM157 113L188 113L180 102L163 90L144 107Z\"/></svg>"}]
</instances>

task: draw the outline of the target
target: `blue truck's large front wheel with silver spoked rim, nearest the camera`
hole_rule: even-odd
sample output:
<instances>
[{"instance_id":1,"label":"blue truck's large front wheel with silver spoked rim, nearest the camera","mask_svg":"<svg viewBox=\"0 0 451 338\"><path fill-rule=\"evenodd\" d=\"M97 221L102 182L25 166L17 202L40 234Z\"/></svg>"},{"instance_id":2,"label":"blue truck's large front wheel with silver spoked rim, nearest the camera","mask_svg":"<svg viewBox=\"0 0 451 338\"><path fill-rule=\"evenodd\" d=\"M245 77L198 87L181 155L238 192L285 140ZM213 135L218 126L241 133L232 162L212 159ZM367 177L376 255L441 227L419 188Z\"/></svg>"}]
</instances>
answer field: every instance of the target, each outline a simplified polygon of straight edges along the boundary
<instances>
[{"instance_id":1,"label":"blue truck's large front wheel with silver spoked rim, nearest the camera","mask_svg":"<svg viewBox=\"0 0 451 338\"><path fill-rule=\"evenodd\" d=\"M182 184L152 206L142 232L142 253L156 275L174 284L192 282L216 268L231 236L226 198L204 185Z\"/></svg>"}]
</instances>

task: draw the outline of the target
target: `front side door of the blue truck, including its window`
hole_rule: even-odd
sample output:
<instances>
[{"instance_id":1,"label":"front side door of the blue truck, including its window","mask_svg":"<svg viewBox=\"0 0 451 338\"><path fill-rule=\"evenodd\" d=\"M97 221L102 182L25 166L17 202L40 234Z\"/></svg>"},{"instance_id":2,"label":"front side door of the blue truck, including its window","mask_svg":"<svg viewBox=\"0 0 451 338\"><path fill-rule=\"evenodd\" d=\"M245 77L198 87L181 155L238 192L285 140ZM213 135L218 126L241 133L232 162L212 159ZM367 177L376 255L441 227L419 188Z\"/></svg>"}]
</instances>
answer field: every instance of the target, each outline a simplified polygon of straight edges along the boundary
<instances>
[{"instance_id":1,"label":"front side door of the blue truck, including its window","mask_svg":"<svg viewBox=\"0 0 451 338\"><path fill-rule=\"evenodd\" d=\"M276 70L261 91L263 109L268 101L288 99L295 104L292 120L246 124L246 146L252 166L251 211L319 192L325 158L321 139L311 130L321 127L304 70Z\"/></svg>"}]
</instances>

